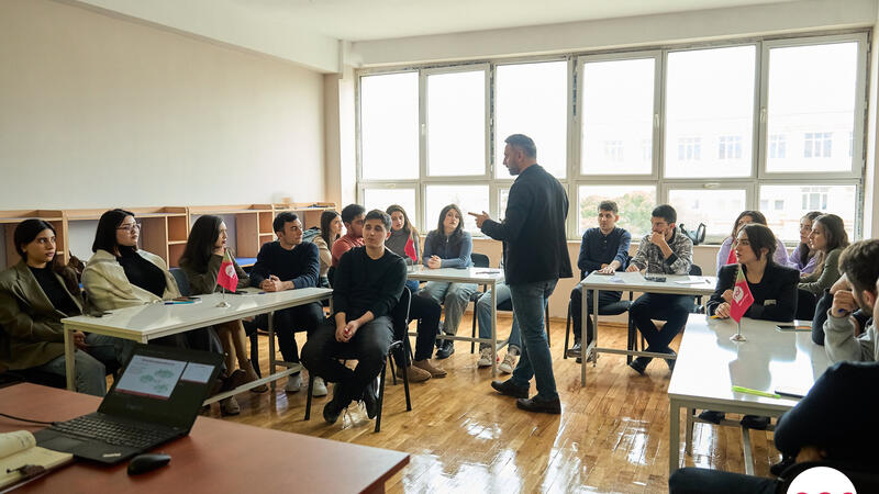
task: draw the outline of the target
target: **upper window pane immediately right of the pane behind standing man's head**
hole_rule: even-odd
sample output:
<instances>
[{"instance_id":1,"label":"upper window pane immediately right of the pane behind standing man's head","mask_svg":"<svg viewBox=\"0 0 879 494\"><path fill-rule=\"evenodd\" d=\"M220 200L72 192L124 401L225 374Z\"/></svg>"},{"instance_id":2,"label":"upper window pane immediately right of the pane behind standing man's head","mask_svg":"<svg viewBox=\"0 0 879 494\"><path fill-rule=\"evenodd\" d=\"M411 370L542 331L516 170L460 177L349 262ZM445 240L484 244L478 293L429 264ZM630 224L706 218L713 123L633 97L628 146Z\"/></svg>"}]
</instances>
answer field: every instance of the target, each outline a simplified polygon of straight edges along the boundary
<instances>
[{"instance_id":1,"label":"upper window pane immediately right of the pane behind standing man's head","mask_svg":"<svg viewBox=\"0 0 879 494\"><path fill-rule=\"evenodd\" d=\"M582 173L650 172L655 71L654 58L583 64ZM609 151L608 143L619 150ZM630 153L624 143L633 147Z\"/></svg>"}]
</instances>

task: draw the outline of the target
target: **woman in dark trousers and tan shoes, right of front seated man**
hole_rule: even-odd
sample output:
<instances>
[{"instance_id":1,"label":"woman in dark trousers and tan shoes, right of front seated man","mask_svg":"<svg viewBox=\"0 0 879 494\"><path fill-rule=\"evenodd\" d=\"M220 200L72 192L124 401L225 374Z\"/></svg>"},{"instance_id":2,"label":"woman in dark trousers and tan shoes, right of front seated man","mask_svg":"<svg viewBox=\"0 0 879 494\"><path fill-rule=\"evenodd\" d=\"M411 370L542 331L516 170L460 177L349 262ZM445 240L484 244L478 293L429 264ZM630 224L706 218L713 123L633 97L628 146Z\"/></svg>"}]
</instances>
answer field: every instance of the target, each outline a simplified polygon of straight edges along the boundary
<instances>
[{"instance_id":1,"label":"woman in dark trousers and tan shoes, right of front seated man","mask_svg":"<svg viewBox=\"0 0 879 494\"><path fill-rule=\"evenodd\" d=\"M385 212L391 217L391 236L388 237L385 247L400 256L407 266L420 262L419 231L409 221L405 210L398 204L391 204ZM405 285L413 295L419 291L419 282L416 280L407 280ZM402 372L404 368L409 374L409 380L412 382L446 377L445 370L431 363L431 353L433 353L433 346L436 343L436 335L439 333L442 313L443 307L433 299L412 296L409 304L409 318L419 321L414 366L409 364L409 359L403 355L402 349L393 355L398 369ZM394 335L394 337L403 338L404 335Z\"/></svg>"}]
</instances>

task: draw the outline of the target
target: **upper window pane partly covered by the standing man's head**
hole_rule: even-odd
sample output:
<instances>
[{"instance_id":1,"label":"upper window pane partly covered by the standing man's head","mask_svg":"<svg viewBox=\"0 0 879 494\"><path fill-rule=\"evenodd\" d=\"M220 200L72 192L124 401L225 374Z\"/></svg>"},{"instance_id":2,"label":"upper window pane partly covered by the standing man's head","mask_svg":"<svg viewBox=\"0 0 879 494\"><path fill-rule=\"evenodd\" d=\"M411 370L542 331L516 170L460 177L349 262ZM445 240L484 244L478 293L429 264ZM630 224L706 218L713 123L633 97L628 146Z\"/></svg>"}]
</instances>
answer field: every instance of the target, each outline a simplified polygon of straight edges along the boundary
<instances>
[{"instance_id":1,"label":"upper window pane partly covered by the standing man's head","mask_svg":"<svg viewBox=\"0 0 879 494\"><path fill-rule=\"evenodd\" d=\"M565 178L568 63L499 65L494 81L494 177L510 177L503 166L503 141L511 134L525 134L537 145L537 162Z\"/></svg>"}]
</instances>

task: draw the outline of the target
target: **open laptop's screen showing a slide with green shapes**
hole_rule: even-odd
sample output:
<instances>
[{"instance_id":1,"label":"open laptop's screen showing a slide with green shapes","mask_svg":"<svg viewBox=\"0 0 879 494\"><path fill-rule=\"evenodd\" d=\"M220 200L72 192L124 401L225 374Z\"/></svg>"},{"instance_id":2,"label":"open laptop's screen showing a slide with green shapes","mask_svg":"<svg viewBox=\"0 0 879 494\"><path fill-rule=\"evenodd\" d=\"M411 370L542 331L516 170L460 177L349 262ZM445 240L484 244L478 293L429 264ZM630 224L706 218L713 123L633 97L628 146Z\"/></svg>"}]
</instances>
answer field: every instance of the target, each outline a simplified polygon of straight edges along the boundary
<instances>
[{"instance_id":1,"label":"open laptop's screen showing a slide with green shapes","mask_svg":"<svg viewBox=\"0 0 879 494\"><path fill-rule=\"evenodd\" d=\"M137 345L98 412L189 429L222 362L219 353Z\"/></svg>"}]
</instances>

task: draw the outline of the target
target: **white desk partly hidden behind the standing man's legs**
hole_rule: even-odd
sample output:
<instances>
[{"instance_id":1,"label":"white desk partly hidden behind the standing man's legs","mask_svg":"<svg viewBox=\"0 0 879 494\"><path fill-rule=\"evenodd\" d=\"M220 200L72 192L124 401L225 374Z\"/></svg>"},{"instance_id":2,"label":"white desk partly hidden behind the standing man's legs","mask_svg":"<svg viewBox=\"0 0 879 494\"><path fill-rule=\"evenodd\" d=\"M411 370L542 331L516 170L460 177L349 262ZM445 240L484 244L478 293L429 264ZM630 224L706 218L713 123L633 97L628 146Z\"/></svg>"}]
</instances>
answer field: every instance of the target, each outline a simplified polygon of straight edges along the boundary
<instances>
[{"instance_id":1,"label":"white desk partly hidden behind the standing man's legs","mask_svg":"<svg viewBox=\"0 0 879 494\"><path fill-rule=\"evenodd\" d=\"M439 268L430 269L424 266L410 266L407 278L418 281L447 281L450 283L487 284L491 288L491 338L469 336L439 335L438 339L453 339L459 341L479 341L491 344L491 375L498 375L498 297L494 285L503 281L503 270L498 268ZM476 314L474 314L476 317Z\"/></svg>"}]
</instances>

